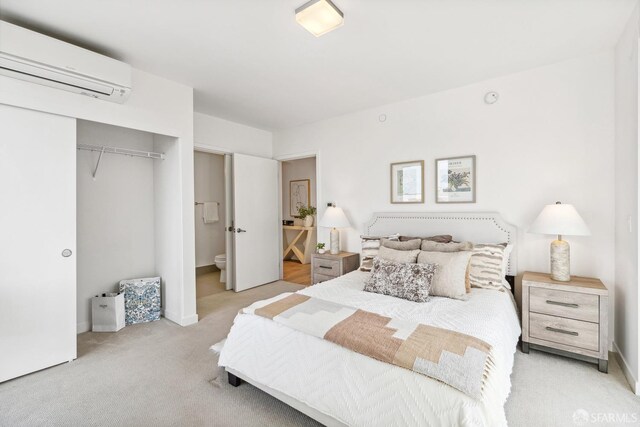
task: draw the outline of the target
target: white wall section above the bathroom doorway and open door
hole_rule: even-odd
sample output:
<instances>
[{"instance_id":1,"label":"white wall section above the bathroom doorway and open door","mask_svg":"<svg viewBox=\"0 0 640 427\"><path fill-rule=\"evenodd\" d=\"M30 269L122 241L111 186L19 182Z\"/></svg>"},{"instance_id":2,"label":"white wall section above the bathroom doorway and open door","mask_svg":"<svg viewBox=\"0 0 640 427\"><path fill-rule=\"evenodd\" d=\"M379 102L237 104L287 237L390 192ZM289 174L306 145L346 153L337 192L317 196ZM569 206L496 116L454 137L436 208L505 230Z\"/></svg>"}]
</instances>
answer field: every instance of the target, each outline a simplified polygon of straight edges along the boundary
<instances>
[{"instance_id":1,"label":"white wall section above the bathroom doorway and open door","mask_svg":"<svg viewBox=\"0 0 640 427\"><path fill-rule=\"evenodd\" d=\"M201 113L194 114L193 128L198 148L271 157L272 134L269 131Z\"/></svg>"}]
</instances>

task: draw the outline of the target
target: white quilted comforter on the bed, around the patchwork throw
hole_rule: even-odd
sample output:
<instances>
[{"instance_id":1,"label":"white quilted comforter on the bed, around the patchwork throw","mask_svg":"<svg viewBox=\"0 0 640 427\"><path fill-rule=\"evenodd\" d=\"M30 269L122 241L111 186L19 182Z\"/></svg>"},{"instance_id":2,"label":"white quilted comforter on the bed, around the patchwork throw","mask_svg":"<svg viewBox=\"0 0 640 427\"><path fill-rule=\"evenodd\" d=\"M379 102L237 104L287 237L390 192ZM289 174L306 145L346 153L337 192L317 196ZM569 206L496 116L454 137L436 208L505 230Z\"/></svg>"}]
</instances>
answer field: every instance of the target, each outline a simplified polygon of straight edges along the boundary
<instances>
[{"instance_id":1,"label":"white quilted comforter on the bed, around the patchwork throw","mask_svg":"<svg viewBox=\"0 0 640 427\"><path fill-rule=\"evenodd\" d=\"M520 325L508 292L473 289L467 301L427 303L364 292L355 271L300 293L381 315L463 332L494 346L482 401L263 317L238 314L218 364L353 426L506 425L504 403Z\"/></svg>"}]
</instances>

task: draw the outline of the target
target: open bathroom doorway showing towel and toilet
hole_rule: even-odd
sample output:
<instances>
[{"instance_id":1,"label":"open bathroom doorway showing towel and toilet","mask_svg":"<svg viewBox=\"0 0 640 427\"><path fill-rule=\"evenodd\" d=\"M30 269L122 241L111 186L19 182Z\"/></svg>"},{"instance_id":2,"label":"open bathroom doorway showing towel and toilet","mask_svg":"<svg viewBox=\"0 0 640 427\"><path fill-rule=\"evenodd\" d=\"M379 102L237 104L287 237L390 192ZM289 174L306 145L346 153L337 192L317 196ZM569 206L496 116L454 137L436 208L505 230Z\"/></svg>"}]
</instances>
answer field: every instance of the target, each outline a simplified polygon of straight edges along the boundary
<instances>
[{"instance_id":1,"label":"open bathroom doorway showing towel and toilet","mask_svg":"<svg viewBox=\"0 0 640 427\"><path fill-rule=\"evenodd\" d=\"M194 152L193 157L196 299L200 306L200 299L228 289L225 159L202 151Z\"/></svg>"}]
</instances>

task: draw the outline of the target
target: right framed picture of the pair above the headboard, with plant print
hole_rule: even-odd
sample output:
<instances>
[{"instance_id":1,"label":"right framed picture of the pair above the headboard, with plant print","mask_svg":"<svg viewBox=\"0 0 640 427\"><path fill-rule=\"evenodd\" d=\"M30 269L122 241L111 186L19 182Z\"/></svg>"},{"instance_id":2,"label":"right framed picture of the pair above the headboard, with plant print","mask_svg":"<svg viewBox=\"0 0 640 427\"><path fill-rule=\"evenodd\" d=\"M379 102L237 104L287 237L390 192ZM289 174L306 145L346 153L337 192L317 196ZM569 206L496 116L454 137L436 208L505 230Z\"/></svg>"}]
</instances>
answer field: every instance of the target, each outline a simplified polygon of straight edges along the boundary
<instances>
[{"instance_id":1,"label":"right framed picture of the pair above the headboard, with plant print","mask_svg":"<svg viewBox=\"0 0 640 427\"><path fill-rule=\"evenodd\" d=\"M476 156L436 159L436 203L476 202Z\"/></svg>"}]
</instances>

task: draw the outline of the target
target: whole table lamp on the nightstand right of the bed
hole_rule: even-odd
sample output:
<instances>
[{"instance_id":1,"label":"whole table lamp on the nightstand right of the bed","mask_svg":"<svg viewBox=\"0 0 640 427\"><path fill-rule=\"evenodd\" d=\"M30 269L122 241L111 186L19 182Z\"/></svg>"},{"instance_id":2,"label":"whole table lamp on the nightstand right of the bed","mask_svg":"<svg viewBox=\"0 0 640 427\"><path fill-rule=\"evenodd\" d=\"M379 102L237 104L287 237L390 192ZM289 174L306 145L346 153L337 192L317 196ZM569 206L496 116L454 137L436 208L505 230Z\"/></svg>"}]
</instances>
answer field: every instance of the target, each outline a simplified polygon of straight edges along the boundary
<instances>
[{"instance_id":1,"label":"whole table lamp on the nightstand right of the bed","mask_svg":"<svg viewBox=\"0 0 640 427\"><path fill-rule=\"evenodd\" d=\"M560 282L571 280L569 273L569 243L562 236L588 236L589 227L578 214L573 205L556 202L546 205L531 227L530 233L556 234L558 240L551 242L551 278Z\"/></svg>"}]
</instances>

